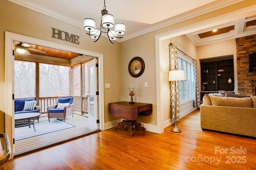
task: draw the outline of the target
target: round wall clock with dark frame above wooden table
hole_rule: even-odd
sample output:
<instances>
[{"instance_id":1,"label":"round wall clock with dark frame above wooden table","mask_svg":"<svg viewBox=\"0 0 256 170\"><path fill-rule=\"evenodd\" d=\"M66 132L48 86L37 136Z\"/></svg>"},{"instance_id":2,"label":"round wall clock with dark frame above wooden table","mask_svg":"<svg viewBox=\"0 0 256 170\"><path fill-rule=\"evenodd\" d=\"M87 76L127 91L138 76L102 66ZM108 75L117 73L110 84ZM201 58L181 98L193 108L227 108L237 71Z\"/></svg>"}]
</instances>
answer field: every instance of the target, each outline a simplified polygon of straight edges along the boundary
<instances>
[{"instance_id":1,"label":"round wall clock with dark frame above wooden table","mask_svg":"<svg viewBox=\"0 0 256 170\"><path fill-rule=\"evenodd\" d=\"M131 59L129 65L128 65L128 70L131 76L133 77L139 77L143 74L145 69L145 63L142 58L140 57L134 57Z\"/></svg>"}]
</instances>

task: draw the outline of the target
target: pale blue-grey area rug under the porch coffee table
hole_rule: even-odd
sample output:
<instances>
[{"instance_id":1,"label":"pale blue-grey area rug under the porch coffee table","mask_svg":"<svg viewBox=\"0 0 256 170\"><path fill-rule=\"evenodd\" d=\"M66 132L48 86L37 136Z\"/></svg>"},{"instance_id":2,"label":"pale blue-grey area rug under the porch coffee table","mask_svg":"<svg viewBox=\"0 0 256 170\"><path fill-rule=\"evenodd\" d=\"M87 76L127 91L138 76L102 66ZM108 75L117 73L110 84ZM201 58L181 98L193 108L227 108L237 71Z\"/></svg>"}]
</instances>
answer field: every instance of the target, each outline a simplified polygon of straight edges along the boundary
<instances>
[{"instance_id":1,"label":"pale blue-grey area rug under the porch coffee table","mask_svg":"<svg viewBox=\"0 0 256 170\"><path fill-rule=\"evenodd\" d=\"M76 126L71 125L70 123L61 121L59 119L55 119L55 120L51 120L50 122L42 121L37 123L35 121L36 132L34 131L33 125L30 125L30 127L31 128L29 128L28 126L16 127L15 141L19 141L19 140L34 137L34 136L44 135L46 133L61 131L61 130L76 127Z\"/></svg>"}]
</instances>

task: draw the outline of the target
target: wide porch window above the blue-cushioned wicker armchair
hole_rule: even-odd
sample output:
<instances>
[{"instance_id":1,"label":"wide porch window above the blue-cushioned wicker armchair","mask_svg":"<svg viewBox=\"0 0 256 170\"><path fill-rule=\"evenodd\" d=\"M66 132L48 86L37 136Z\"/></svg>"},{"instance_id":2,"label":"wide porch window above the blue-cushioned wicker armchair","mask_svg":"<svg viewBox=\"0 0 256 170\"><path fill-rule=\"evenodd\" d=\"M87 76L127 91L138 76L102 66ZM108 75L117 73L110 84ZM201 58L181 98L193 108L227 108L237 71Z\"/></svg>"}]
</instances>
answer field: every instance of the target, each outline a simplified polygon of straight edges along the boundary
<instances>
[{"instance_id":1,"label":"wide porch window above the blue-cushioned wicker armchair","mask_svg":"<svg viewBox=\"0 0 256 170\"><path fill-rule=\"evenodd\" d=\"M39 96L70 96L68 66L42 64L39 66Z\"/></svg>"}]
</instances>

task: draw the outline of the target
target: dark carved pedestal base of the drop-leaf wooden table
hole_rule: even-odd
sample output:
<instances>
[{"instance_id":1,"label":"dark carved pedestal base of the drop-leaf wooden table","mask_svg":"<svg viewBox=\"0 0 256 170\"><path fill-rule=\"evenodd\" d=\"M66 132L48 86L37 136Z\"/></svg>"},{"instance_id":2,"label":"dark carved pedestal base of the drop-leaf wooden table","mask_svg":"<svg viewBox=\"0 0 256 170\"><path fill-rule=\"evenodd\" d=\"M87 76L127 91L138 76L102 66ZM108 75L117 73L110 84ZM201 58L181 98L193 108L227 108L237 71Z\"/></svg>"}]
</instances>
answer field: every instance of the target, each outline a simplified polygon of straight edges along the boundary
<instances>
[{"instance_id":1,"label":"dark carved pedestal base of the drop-leaf wooden table","mask_svg":"<svg viewBox=\"0 0 256 170\"><path fill-rule=\"evenodd\" d=\"M118 125L114 127L114 129L117 130L117 129L124 128L124 125L130 128L132 136L135 135L133 129L143 130L143 132L145 131L145 128L141 127L141 123L138 123L136 120L123 120L122 122L118 123Z\"/></svg>"}]
</instances>

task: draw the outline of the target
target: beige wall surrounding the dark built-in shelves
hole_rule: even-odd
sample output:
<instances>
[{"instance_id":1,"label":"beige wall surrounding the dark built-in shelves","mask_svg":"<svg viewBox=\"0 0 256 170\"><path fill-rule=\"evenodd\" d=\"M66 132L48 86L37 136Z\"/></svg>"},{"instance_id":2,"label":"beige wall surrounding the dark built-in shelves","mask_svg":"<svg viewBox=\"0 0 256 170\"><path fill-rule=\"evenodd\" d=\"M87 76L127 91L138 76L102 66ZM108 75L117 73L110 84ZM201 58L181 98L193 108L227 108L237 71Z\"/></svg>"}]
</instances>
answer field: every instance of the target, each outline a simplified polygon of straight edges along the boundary
<instances>
[{"instance_id":1,"label":"beige wall surrounding the dark built-in shelves","mask_svg":"<svg viewBox=\"0 0 256 170\"><path fill-rule=\"evenodd\" d=\"M196 50L197 50L198 60L227 56L227 55L234 55L235 92L237 93L236 39L230 39L230 40L221 41L218 43L201 45L196 47ZM199 68L200 68L200 64L199 64ZM201 84L200 74L199 74L199 82Z\"/></svg>"}]
</instances>

